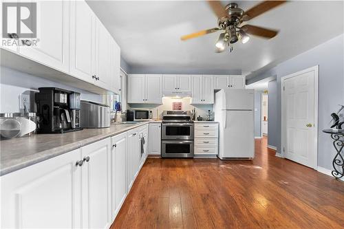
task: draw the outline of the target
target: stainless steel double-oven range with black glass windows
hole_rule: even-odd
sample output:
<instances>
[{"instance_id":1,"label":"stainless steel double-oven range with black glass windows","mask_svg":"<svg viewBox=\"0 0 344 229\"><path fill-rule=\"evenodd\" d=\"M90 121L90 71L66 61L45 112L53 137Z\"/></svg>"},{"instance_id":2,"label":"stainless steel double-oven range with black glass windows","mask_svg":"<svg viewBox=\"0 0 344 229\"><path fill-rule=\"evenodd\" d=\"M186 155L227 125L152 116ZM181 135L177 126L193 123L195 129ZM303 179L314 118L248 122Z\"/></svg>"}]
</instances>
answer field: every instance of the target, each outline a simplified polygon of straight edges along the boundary
<instances>
[{"instance_id":1,"label":"stainless steel double-oven range with black glass windows","mask_svg":"<svg viewBox=\"0 0 344 229\"><path fill-rule=\"evenodd\" d=\"M190 111L164 111L162 157L193 157L193 121Z\"/></svg>"}]
</instances>

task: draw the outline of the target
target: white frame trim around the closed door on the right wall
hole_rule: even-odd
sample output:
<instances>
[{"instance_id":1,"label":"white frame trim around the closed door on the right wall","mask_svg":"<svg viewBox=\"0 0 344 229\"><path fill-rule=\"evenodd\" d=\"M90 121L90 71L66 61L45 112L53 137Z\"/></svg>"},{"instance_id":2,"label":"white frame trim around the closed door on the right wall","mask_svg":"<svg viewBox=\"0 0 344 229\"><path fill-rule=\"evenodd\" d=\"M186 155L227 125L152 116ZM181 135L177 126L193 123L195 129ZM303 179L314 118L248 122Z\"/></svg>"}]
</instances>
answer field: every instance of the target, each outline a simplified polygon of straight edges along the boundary
<instances>
[{"instance_id":1,"label":"white frame trim around the closed door on the right wall","mask_svg":"<svg viewBox=\"0 0 344 229\"><path fill-rule=\"evenodd\" d=\"M314 71L314 165L312 168L315 170L318 166L318 96L319 96L319 65L314 67L309 67L307 69L303 69L299 72L295 72L293 74L289 74L288 76L281 77L281 155L285 157L284 146L286 145L286 102L284 101L284 93L283 88L285 81L288 78L292 78L294 76L298 76L300 74L304 74L306 72Z\"/></svg>"}]
</instances>

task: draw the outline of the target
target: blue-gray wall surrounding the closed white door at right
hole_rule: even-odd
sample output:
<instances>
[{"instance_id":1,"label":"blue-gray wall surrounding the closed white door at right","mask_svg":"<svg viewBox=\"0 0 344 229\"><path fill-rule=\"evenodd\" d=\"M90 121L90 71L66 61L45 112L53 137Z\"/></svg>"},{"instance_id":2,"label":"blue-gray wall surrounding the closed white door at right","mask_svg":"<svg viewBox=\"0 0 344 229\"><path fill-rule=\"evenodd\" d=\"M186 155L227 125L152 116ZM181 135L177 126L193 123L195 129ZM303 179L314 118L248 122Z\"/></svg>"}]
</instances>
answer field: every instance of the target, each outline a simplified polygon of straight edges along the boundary
<instances>
[{"instance_id":1,"label":"blue-gray wall surrounding the closed white door at right","mask_svg":"<svg viewBox=\"0 0 344 229\"><path fill-rule=\"evenodd\" d=\"M338 104L344 104L343 40L344 35L342 34L268 70L269 74L271 72L277 74L276 136L277 151L281 152L281 77L319 65L318 166L327 169L332 169L332 158L335 151L330 135L323 133L322 130L330 127L330 113L338 109ZM269 74L263 73L257 77Z\"/></svg>"}]
</instances>

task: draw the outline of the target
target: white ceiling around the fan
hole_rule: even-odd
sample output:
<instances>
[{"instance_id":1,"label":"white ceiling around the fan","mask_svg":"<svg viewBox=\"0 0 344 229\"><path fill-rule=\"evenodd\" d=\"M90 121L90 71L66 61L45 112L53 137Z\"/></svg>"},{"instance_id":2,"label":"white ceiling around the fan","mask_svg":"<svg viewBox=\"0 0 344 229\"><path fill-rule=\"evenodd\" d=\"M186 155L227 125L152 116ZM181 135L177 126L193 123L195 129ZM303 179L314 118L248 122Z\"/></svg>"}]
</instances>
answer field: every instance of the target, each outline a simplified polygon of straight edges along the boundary
<instances>
[{"instance_id":1,"label":"white ceiling around the fan","mask_svg":"<svg viewBox=\"0 0 344 229\"><path fill-rule=\"evenodd\" d=\"M251 37L234 52L217 54L219 32L180 41L180 36L216 27L206 1L87 1L120 45L132 67L186 73L241 69L247 75L274 66L343 34L343 1L290 1L249 24L280 30L274 39ZM223 1L224 5L229 1ZM235 1L247 10L259 1Z\"/></svg>"}]
</instances>

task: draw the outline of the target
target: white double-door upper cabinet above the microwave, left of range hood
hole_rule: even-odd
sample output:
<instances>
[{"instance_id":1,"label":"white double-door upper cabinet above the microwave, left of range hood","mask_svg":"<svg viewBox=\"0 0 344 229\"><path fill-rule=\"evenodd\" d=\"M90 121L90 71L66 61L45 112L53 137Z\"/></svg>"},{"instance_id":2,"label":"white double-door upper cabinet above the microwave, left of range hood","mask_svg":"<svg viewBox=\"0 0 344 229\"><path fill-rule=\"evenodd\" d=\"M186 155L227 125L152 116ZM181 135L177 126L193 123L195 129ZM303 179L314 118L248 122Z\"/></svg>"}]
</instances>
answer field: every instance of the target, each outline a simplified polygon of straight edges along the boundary
<instances>
[{"instance_id":1,"label":"white double-door upper cabinet above the microwave, left of range hood","mask_svg":"<svg viewBox=\"0 0 344 229\"><path fill-rule=\"evenodd\" d=\"M162 103L162 76L159 74L129 74L129 103Z\"/></svg>"}]
</instances>

